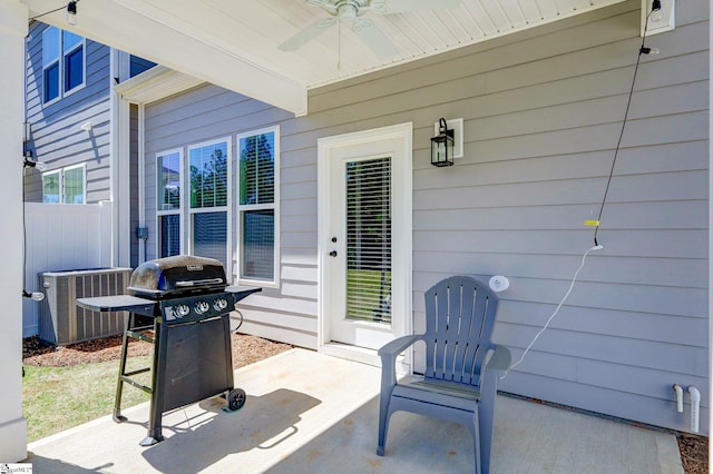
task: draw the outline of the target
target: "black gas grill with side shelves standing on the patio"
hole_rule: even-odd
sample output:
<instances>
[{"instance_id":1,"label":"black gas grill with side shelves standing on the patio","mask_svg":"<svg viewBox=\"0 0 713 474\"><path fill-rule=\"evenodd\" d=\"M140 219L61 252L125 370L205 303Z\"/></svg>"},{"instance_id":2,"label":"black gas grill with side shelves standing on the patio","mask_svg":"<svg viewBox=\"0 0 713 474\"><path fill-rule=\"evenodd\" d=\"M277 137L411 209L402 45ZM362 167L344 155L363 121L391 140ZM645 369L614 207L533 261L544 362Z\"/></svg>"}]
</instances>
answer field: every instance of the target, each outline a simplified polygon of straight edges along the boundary
<instances>
[{"instance_id":1,"label":"black gas grill with side shelves standing on the patio","mask_svg":"<svg viewBox=\"0 0 713 474\"><path fill-rule=\"evenodd\" d=\"M150 260L131 274L129 295L81 298L81 307L99 312L127 310L114 419L124 422L121 391L125 383L152 396L148 436L140 442L160 442L162 416L180 406L225 396L226 412L245 404L245 392L233 386L229 312L235 303L261 288L227 286L221 261L194 256ZM141 324L140 320L148 324ZM153 336L147 332L153 329ZM153 365L126 371L128 340L154 344ZM152 372L152 386L135 376Z\"/></svg>"}]
</instances>

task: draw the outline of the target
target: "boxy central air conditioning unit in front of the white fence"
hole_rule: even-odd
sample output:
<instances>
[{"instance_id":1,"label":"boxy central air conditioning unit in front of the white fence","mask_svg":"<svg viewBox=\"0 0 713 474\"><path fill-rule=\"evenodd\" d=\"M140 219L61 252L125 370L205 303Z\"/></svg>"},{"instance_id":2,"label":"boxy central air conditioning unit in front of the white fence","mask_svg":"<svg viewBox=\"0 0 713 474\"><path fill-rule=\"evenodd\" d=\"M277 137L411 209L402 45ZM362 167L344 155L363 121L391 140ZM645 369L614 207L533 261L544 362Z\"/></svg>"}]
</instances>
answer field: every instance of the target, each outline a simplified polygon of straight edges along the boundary
<instances>
[{"instance_id":1,"label":"boxy central air conditioning unit in front of the white fence","mask_svg":"<svg viewBox=\"0 0 713 474\"><path fill-rule=\"evenodd\" d=\"M77 298L124 295L131 273L131 268L40 273L39 287L45 292L40 339L65 346L121 334L127 312L91 312L77 307Z\"/></svg>"}]
</instances>

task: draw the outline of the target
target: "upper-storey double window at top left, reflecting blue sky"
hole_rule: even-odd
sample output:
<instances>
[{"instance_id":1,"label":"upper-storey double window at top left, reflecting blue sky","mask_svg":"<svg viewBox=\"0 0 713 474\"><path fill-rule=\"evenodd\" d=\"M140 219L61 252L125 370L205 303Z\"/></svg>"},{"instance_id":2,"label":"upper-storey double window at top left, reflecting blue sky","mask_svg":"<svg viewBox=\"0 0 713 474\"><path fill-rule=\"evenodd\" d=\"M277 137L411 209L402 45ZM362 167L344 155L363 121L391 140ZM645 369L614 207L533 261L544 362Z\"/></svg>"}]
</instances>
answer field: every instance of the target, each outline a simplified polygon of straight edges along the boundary
<instances>
[{"instance_id":1,"label":"upper-storey double window at top left, reflecting blue sky","mask_svg":"<svg viewBox=\"0 0 713 474\"><path fill-rule=\"evenodd\" d=\"M57 27L42 31L42 100L52 102L79 89L86 77L85 39Z\"/></svg>"}]
</instances>

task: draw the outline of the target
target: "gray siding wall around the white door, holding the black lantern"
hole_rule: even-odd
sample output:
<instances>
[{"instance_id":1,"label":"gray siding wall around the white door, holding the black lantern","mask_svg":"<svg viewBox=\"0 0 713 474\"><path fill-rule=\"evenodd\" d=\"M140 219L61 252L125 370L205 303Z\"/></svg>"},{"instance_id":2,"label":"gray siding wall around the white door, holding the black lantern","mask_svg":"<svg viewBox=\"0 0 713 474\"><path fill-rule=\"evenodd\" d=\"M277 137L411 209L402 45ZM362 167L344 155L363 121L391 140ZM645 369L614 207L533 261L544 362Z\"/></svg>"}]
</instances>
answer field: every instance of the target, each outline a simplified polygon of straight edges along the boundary
<instances>
[{"instance_id":1,"label":"gray siding wall around the white door, holding the black lantern","mask_svg":"<svg viewBox=\"0 0 713 474\"><path fill-rule=\"evenodd\" d=\"M157 151L280 124L282 288L251 297L244 328L315 347L316 140L412 121L416 330L423 293L442 277L506 275L495 337L517 359L594 244L584 221L596 219L607 186L639 7L323 87L303 118L199 88L147 108L147 182ZM604 249L502 389L688 429L672 385L695 385L707 433L709 8L680 2L675 31L648 40L662 53L641 60L598 233ZM440 117L465 119L465 157L452 168L429 164Z\"/></svg>"}]
</instances>

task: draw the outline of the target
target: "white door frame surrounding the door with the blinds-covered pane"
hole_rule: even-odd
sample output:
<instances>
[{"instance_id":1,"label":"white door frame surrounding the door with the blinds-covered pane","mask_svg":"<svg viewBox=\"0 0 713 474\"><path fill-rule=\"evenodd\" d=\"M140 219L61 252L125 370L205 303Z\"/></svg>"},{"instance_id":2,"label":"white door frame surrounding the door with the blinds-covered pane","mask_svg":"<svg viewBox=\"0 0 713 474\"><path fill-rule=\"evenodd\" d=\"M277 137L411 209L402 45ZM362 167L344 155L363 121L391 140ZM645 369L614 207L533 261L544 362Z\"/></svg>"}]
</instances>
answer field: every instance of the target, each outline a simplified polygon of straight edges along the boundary
<instances>
[{"instance_id":1,"label":"white door frame surrounding the door with the blinds-covered pane","mask_svg":"<svg viewBox=\"0 0 713 474\"><path fill-rule=\"evenodd\" d=\"M404 229L397 241L394 238L392 251L392 266L394 271L403 275L402 282L394 283L392 298L399 298L403 308L401 315L403 323L398 326L395 337L412 332L412 304L411 304L411 260L412 260L412 142L413 124L400 124L372 130L356 131L352 134L338 135L333 137L320 138L318 140L318 350L320 353L349 358L371 365L380 365L375 350L332 343L330 333L329 308L331 307L330 295L324 292L324 283L330 278L325 260L330 251L330 176L333 151L343 147L353 147L361 144L369 144L380 140L397 139L402 147L402 172L394 172L393 179L400 180L394 190L400 192L394 196L394 201L400 201L402 207L399 215L402 217L400 228ZM401 334L402 333L402 334ZM410 357L409 357L410 358ZM408 361L403 361L408 364Z\"/></svg>"}]
</instances>

